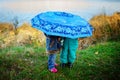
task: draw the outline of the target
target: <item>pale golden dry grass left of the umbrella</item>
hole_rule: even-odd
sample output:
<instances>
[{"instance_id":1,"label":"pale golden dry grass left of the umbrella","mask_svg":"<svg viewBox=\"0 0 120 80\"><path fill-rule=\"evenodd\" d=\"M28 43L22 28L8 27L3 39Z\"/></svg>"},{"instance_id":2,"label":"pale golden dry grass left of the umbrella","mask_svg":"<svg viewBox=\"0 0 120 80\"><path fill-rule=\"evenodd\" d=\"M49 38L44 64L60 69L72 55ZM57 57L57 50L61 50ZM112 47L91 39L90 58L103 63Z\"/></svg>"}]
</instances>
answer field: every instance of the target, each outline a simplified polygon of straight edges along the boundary
<instances>
[{"instance_id":1,"label":"pale golden dry grass left of the umbrella","mask_svg":"<svg viewBox=\"0 0 120 80\"><path fill-rule=\"evenodd\" d=\"M45 44L44 34L32 28L31 25L24 23L16 30L13 27L10 23L0 24L0 48L32 43L34 43L35 46Z\"/></svg>"}]
</instances>

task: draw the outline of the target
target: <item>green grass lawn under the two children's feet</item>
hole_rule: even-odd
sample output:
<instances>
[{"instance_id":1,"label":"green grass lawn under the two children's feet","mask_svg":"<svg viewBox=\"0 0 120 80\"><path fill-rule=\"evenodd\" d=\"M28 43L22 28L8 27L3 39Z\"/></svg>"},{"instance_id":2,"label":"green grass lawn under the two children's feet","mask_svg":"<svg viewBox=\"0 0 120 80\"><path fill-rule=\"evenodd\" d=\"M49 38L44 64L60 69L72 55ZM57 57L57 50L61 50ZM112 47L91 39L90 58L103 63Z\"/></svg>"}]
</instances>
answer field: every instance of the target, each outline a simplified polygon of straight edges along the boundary
<instances>
[{"instance_id":1,"label":"green grass lawn under the two children's feet","mask_svg":"<svg viewBox=\"0 0 120 80\"><path fill-rule=\"evenodd\" d=\"M57 55L57 63L60 54ZM77 51L72 69L47 70L45 47L33 45L0 49L0 80L119 80L120 41L105 42Z\"/></svg>"}]
</instances>

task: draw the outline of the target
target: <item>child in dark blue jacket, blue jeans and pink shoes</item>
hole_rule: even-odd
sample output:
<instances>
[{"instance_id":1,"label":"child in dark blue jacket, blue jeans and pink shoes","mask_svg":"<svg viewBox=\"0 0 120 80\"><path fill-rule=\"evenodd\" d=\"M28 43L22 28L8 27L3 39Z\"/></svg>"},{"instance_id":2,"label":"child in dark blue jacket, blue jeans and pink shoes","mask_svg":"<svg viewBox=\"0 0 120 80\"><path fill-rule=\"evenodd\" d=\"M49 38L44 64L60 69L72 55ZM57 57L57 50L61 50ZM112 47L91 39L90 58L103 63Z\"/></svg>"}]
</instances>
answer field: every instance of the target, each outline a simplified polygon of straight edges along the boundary
<instances>
[{"instance_id":1,"label":"child in dark blue jacket, blue jeans and pink shoes","mask_svg":"<svg viewBox=\"0 0 120 80\"><path fill-rule=\"evenodd\" d=\"M52 73L56 73L58 71L55 68L58 65L56 64L55 60L56 60L56 53L58 53L61 48L59 40L60 38L57 36L46 35L46 49L48 53L48 69Z\"/></svg>"}]
</instances>

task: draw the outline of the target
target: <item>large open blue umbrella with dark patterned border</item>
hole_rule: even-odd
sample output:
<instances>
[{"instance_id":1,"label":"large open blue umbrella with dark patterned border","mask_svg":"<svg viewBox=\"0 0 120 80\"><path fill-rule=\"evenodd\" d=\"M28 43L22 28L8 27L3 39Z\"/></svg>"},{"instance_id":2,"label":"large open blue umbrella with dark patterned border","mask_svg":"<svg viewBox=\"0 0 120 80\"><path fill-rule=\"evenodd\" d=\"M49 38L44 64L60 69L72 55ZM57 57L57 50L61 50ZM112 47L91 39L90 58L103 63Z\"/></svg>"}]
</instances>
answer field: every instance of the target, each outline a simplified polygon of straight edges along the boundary
<instances>
[{"instance_id":1,"label":"large open blue umbrella with dark patterned border","mask_svg":"<svg viewBox=\"0 0 120 80\"><path fill-rule=\"evenodd\" d=\"M80 38L92 36L91 25L78 15L66 12L44 12L31 20L32 27L48 35Z\"/></svg>"}]
</instances>

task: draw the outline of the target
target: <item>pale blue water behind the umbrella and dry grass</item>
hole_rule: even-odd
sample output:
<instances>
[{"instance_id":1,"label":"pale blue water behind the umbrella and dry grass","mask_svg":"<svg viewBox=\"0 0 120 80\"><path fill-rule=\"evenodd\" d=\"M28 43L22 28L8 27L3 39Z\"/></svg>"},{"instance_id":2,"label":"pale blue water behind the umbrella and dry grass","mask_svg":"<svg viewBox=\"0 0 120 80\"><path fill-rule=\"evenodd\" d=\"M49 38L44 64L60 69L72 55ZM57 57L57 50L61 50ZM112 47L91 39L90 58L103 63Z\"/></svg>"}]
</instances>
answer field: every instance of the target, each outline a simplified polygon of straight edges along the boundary
<instances>
[{"instance_id":1,"label":"pale blue water behind the umbrella and dry grass","mask_svg":"<svg viewBox=\"0 0 120 80\"><path fill-rule=\"evenodd\" d=\"M0 0L0 22L20 24L45 11L66 11L89 20L95 15L120 11L120 0Z\"/></svg>"}]
</instances>

